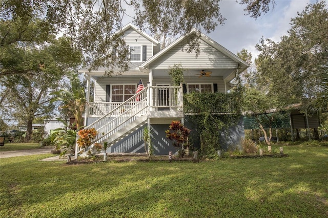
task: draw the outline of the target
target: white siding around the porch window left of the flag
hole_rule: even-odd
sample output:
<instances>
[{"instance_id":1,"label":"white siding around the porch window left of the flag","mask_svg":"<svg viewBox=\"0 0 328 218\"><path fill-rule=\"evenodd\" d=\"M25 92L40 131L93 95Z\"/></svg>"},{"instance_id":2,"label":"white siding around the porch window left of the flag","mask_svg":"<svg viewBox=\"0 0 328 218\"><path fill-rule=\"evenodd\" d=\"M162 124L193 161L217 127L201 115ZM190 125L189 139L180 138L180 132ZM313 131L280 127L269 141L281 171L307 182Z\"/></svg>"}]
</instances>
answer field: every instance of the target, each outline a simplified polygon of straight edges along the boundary
<instances>
[{"instance_id":1,"label":"white siding around the porch window left of the flag","mask_svg":"<svg viewBox=\"0 0 328 218\"><path fill-rule=\"evenodd\" d=\"M106 85L110 84L138 84L142 80L144 86L147 86L148 76L146 77L100 77L95 83L94 102L106 101Z\"/></svg>"}]
</instances>

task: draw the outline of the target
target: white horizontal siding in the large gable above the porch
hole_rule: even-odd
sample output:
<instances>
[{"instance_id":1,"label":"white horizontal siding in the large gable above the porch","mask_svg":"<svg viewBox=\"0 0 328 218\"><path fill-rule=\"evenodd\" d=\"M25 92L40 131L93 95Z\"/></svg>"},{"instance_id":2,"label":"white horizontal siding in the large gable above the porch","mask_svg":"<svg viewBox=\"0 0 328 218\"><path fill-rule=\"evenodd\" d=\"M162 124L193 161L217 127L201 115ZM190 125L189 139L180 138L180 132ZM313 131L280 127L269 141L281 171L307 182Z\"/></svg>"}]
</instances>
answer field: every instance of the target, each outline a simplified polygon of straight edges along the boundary
<instances>
[{"instance_id":1,"label":"white horizontal siding in the large gable above the porch","mask_svg":"<svg viewBox=\"0 0 328 218\"><path fill-rule=\"evenodd\" d=\"M187 53L187 46L181 47L181 43L158 57L150 64L150 69L168 69L175 63L181 63L188 69L225 69L235 68L236 62L222 52L210 46L207 42L200 41L200 54L196 58L195 53Z\"/></svg>"}]
</instances>

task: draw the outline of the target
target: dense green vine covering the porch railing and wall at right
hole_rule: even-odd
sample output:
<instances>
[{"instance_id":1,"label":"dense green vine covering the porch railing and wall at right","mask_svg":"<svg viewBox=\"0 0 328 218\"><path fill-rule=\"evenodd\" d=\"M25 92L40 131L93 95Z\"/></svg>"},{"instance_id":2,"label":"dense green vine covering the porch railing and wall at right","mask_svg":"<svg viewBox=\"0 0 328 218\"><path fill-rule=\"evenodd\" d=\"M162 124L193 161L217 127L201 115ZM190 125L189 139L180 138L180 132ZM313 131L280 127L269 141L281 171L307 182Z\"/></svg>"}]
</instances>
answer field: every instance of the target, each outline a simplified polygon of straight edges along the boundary
<instances>
[{"instance_id":1,"label":"dense green vine covering the porch railing and wall at right","mask_svg":"<svg viewBox=\"0 0 328 218\"><path fill-rule=\"evenodd\" d=\"M214 157L221 149L221 134L229 137L229 128L240 119L239 93L185 94L183 105L185 113L194 115L191 121L200 135L200 155Z\"/></svg>"}]
</instances>

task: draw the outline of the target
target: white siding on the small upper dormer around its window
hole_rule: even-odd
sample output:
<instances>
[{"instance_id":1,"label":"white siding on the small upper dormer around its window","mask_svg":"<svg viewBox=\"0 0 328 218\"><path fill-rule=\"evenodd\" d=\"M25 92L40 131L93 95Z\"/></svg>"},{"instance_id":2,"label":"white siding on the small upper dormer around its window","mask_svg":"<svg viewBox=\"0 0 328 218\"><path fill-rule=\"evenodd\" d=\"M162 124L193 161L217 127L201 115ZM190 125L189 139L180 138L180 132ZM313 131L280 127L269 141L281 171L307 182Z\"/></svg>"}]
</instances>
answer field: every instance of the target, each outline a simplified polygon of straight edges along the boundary
<instances>
[{"instance_id":1,"label":"white siding on the small upper dormer around its window","mask_svg":"<svg viewBox=\"0 0 328 218\"><path fill-rule=\"evenodd\" d=\"M129 46L147 46L147 60L153 56L153 43L134 29L130 28L124 32L124 40Z\"/></svg>"}]
</instances>

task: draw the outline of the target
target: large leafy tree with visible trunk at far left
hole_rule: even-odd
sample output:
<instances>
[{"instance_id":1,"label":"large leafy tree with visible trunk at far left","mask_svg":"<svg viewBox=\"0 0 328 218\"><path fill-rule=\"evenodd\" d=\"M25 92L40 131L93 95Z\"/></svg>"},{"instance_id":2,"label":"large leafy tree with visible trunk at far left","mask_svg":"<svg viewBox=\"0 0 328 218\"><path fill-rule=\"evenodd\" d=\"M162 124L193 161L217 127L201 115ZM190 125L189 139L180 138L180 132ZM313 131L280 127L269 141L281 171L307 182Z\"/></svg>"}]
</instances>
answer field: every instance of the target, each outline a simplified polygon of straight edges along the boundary
<instances>
[{"instance_id":1,"label":"large leafy tree with visible trunk at far left","mask_svg":"<svg viewBox=\"0 0 328 218\"><path fill-rule=\"evenodd\" d=\"M21 41L0 47L1 110L26 124L26 141L31 139L33 120L54 111L49 93L58 89L62 77L81 58L69 39L52 36L47 40L37 45Z\"/></svg>"}]
</instances>

